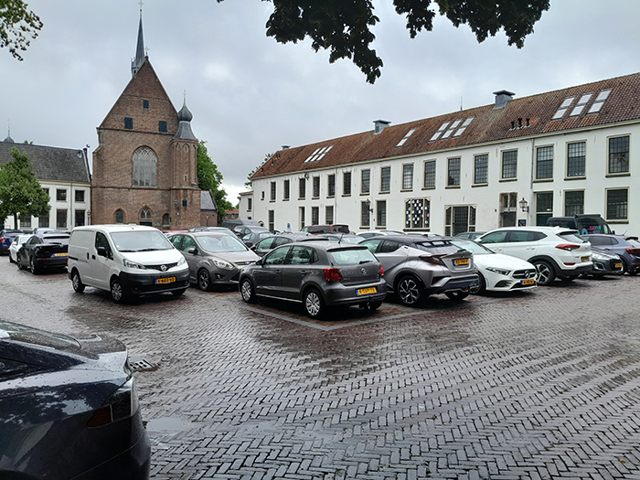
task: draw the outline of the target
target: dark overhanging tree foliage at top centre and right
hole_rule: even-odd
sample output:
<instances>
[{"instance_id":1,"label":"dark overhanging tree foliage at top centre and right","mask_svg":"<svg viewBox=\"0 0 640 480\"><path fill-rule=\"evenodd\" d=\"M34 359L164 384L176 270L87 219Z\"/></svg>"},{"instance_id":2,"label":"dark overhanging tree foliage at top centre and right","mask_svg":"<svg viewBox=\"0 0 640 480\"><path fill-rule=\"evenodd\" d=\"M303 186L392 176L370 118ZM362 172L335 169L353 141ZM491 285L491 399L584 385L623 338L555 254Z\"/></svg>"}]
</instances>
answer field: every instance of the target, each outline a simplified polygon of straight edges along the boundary
<instances>
[{"instance_id":1,"label":"dark overhanging tree foliage at top centre and right","mask_svg":"<svg viewBox=\"0 0 640 480\"><path fill-rule=\"evenodd\" d=\"M330 63L351 59L369 83L379 78L382 59L370 48L375 39L371 27L379 22L373 15L372 0L270 1L273 13L267 21L267 36L280 43L310 37L316 52L329 50ZM504 29L508 45L522 48L542 12L549 9L549 0L393 0L393 5L399 15L407 17L411 38L422 28L432 30L437 7L455 27L467 24L478 42Z\"/></svg>"}]
</instances>

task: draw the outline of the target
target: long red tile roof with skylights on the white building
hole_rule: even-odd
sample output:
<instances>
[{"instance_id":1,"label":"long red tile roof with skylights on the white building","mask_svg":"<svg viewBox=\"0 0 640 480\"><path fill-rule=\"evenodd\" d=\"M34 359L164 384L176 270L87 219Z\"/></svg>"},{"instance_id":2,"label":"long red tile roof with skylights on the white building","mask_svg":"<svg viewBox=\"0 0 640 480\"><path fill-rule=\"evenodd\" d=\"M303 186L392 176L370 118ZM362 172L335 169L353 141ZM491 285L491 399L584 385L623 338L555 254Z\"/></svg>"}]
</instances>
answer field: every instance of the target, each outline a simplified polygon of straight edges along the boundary
<instances>
[{"instance_id":1,"label":"long red tile roof with skylights on the white building","mask_svg":"<svg viewBox=\"0 0 640 480\"><path fill-rule=\"evenodd\" d=\"M606 89L613 90L604 101L600 112L589 113L589 109L600 91ZM580 115L570 116L571 110L581 95L585 93L592 93L586 107ZM575 97L569 110L559 120L552 120L560 104L568 97ZM495 105L490 104L462 112L452 112L415 122L392 125L379 134L374 134L371 130L316 144L280 150L261 165L261 168L251 178L257 179L262 176L276 176L315 168L355 164L398 155L424 154L473 144L637 120L640 118L639 100L640 73L635 73L514 99L502 109L494 109ZM430 141L433 133L436 133L444 122L455 120L464 122L469 117L475 118L459 137L453 138L452 134L447 139ZM519 122L522 124L521 127L519 127ZM412 128L416 129L415 132L402 146L397 147L396 145ZM330 145L333 147L320 161L304 163L318 148Z\"/></svg>"}]
</instances>

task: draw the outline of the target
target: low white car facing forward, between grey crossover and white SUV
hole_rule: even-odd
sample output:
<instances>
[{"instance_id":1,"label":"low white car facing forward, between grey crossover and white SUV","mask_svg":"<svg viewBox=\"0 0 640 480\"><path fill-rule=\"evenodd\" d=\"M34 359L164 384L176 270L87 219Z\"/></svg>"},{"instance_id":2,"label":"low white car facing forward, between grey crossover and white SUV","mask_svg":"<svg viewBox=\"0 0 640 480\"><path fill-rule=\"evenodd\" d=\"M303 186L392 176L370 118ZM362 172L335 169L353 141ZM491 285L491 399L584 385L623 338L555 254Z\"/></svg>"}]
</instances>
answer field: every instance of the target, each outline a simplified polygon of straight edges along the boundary
<instances>
[{"instance_id":1,"label":"low white car facing forward, between grey crossover and white SUV","mask_svg":"<svg viewBox=\"0 0 640 480\"><path fill-rule=\"evenodd\" d=\"M475 293L529 290L537 286L536 267L528 261L490 251L473 240L452 239L451 242L474 254L480 273L480 288Z\"/></svg>"}]
</instances>

